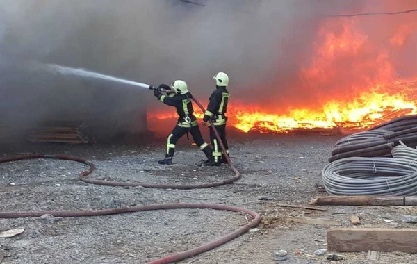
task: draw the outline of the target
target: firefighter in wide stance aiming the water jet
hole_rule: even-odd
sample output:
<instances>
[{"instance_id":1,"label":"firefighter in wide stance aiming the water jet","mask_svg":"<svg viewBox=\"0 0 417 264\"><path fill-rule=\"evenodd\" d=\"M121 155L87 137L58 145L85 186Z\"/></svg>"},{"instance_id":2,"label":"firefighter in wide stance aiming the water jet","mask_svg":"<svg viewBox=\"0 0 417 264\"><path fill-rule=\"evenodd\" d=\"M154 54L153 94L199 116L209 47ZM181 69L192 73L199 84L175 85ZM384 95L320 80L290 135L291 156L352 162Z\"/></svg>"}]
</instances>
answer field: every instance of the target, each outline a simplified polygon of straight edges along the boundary
<instances>
[{"instance_id":1,"label":"firefighter in wide stance aiming the water jet","mask_svg":"<svg viewBox=\"0 0 417 264\"><path fill-rule=\"evenodd\" d=\"M165 90L166 95L161 92ZM177 125L174 127L167 138L167 152L163 160L159 160L159 164L172 164L172 157L174 156L175 144L186 133L193 136L195 144L202 149L208 160L206 163L213 163L213 150L204 141L202 133L199 129L197 118L193 115L193 104L191 102L191 94L188 92L188 86L185 81L174 81L170 86L161 84L158 89L154 90L154 95L159 101L168 106L177 108L179 115Z\"/></svg>"}]
</instances>

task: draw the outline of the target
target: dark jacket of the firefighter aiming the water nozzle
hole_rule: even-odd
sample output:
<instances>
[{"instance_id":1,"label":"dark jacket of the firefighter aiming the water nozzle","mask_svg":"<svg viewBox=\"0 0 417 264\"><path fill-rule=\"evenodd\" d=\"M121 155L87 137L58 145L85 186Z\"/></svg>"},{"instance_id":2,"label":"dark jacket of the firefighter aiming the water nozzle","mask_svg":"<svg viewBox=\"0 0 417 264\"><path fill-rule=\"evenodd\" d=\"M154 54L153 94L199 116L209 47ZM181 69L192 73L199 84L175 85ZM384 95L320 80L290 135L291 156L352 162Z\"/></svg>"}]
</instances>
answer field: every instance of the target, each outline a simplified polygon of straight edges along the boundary
<instances>
[{"instance_id":1,"label":"dark jacket of the firefighter aiming the water nozzle","mask_svg":"<svg viewBox=\"0 0 417 264\"><path fill-rule=\"evenodd\" d=\"M191 94L169 94L169 95L158 95L159 101L168 106L174 106L177 108L178 126L191 127L197 126L197 118L193 115L193 103L191 101Z\"/></svg>"}]
</instances>

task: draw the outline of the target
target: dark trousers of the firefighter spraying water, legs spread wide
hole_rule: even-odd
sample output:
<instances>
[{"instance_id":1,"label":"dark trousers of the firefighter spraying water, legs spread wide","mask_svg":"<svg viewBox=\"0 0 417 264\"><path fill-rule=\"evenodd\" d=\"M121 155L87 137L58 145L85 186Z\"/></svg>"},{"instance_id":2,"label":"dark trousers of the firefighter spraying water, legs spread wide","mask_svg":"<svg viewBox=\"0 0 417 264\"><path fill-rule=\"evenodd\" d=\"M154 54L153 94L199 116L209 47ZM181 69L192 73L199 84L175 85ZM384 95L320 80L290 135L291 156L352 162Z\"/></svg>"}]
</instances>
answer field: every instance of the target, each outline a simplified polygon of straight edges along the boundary
<instances>
[{"instance_id":1,"label":"dark trousers of the firefighter spraying water, legs spread wide","mask_svg":"<svg viewBox=\"0 0 417 264\"><path fill-rule=\"evenodd\" d=\"M212 159L213 157L213 150L211 147L204 141L202 132L199 129L198 124L191 126L191 127L184 127L184 126L177 126L172 129L172 132L170 135L168 135L167 138L167 153L166 157L172 157L174 156L175 151L175 144L177 144L177 141L183 137L186 133L190 133L193 137L193 140L195 144L204 152L206 157L208 159Z\"/></svg>"}]
</instances>

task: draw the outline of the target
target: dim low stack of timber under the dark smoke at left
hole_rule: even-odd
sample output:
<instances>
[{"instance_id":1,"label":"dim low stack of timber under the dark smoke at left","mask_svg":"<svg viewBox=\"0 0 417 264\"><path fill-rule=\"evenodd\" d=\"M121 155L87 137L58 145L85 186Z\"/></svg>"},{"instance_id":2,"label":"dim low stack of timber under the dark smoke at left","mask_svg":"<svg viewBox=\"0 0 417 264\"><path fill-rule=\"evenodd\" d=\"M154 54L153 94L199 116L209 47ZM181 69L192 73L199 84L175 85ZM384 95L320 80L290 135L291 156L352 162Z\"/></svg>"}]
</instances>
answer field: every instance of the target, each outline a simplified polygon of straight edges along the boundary
<instances>
[{"instance_id":1,"label":"dim low stack of timber under the dark smoke at left","mask_svg":"<svg viewBox=\"0 0 417 264\"><path fill-rule=\"evenodd\" d=\"M88 144L95 141L83 122L46 122L33 129L27 139L35 143L66 144Z\"/></svg>"}]
</instances>

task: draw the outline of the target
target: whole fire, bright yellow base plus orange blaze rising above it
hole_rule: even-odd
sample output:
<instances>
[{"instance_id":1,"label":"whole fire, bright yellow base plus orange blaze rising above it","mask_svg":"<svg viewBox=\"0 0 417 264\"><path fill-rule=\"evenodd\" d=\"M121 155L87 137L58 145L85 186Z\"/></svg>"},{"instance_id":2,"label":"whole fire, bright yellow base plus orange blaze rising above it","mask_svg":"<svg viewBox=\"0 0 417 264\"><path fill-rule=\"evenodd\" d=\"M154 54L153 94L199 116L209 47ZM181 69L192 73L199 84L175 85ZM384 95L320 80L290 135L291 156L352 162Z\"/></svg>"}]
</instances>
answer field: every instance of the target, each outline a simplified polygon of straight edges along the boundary
<instances>
[{"instance_id":1,"label":"whole fire, bright yellow base plus orange blaze rising above it","mask_svg":"<svg viewBox=\"0 0 417 264\"><path fill-rule=\"evenodd\" d=\"M417 22L392 25L394 31L380 43L370 36L372 32L361 31L360 21L341 18L322 22L313 42L315 52L300 69L299 87L295 88L314 94L314 101L288 110L234 101L232 93L229 126L245 133L340 132L369 129L395 117L416 114L417 75L398 78L391 48L401 49L415 38ZM202 113L196 116L203 117ZM151 117L177 118L175 113Z\"/></svg>"}]
</instances>

